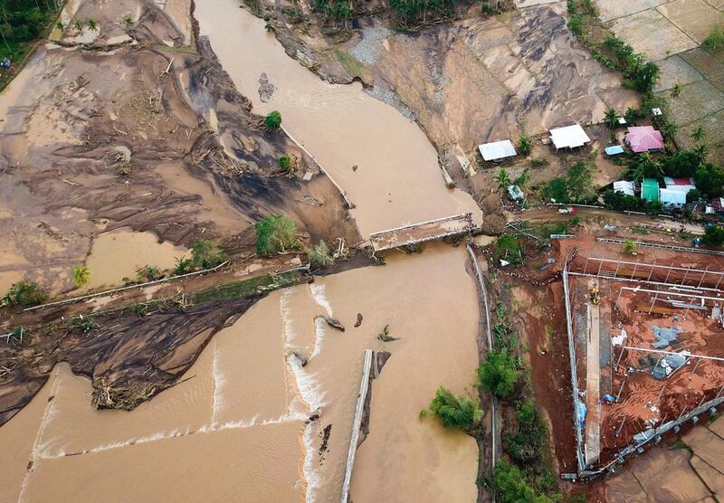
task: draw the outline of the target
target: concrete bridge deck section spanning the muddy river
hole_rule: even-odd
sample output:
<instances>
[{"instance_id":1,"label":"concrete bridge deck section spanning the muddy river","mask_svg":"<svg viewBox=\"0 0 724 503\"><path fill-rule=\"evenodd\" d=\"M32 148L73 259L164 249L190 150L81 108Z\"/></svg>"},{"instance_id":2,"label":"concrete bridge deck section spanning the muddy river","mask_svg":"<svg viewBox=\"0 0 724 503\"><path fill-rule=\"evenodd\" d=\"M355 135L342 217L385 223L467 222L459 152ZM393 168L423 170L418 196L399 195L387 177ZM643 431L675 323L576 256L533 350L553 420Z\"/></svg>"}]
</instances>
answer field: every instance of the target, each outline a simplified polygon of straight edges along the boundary
<instances>
[{"instance_id":1,"label":"concrete bridge deck section spanning the muddy river","mask_svg":"<svg viewBox=\"0 0 724 503\"><path fill-rule=\"evenodd\" d=\"M423 242L434 241L446 237L470 233L475 229L472 213L456 214L428 220L427 222L411 223L394 229L371 233L369 242L374 251L410 246Z\"/></svg>"}]
</instances>

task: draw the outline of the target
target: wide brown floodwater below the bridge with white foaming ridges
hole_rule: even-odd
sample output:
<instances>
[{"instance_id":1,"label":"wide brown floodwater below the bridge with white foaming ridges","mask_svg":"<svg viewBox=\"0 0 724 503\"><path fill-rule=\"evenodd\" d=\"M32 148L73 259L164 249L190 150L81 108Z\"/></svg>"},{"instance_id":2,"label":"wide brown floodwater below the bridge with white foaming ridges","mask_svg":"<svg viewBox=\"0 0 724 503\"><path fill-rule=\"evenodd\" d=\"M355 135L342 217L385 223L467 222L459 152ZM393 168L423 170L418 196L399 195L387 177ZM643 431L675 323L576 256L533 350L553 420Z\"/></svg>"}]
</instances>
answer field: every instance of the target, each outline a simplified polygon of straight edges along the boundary
<instances>
[{"instance_id":1,"label":"wide brown floodwater below the bridge with white foaming ridges","mask_svg":"<svg viewBox=\"0 0 724 503\"><path fill-rule=\"evenodd\" d=\"M373 384L352 498L473 501L475 441L418 417L440 384L473 393L478 309L465 262L464 249L436 245L393 256L385 267L275 291L214 337L185 382L130 413L94 410L90 381L58 365L0 428L0 494L13 501L338 500L368 347L392 356ZM355 328L357 312L364 320ZM399 340L377 338L386 325ZM319 419L306 423L312 413Z\"/></svg>"}]
</instances>

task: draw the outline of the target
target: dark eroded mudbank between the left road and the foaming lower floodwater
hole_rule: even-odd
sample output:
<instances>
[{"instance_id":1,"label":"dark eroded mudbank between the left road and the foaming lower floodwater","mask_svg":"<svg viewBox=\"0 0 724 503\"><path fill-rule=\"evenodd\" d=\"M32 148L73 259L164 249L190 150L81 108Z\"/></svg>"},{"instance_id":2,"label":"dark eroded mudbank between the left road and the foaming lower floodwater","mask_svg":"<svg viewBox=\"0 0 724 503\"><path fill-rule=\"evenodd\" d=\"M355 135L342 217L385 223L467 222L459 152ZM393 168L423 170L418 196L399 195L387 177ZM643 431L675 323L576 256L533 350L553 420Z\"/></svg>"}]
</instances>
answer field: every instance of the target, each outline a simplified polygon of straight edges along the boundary
<instances>
[{"instance_id":1,"label":"dark eroded mudbank between the left road and the foaming lower floodwater","mask_svg":"<svg viewBox=\"0 0 724 503\"><path fill-rule=\"evenodd\" d=\"M103 408L133 409L175 384L211 337L233 323L257 297L214 303L187 311L160 312L139 318L100 317L102 327L52 329L36 333L22 347L3 347L0 365L9 369L0 385L0 423L30 401L50 376L67 362L93 384L93 403Z\"/></svg>"}]
</instances>

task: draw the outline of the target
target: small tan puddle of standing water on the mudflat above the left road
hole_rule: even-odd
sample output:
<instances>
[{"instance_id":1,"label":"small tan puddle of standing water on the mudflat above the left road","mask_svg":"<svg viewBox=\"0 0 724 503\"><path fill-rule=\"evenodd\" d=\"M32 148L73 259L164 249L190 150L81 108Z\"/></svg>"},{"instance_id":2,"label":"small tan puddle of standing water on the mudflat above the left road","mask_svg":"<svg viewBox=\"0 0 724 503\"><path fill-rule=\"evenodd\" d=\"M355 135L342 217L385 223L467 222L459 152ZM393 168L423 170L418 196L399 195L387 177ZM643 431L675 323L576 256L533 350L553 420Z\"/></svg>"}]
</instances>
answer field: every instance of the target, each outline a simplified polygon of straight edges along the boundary
<instances>
[{"instance_id":1,"label":"small tan puddle of standing water on the mudflat above the left road","mask_svg":"<svg viewBox=\"0 0 724 503\"><path fill-rule=\"evenodd\" d=\"M136 233L119 229L102 233L93 240L86 266L90 270L89 288L121 285L123 278L136 279L136 271L147 265L161 270L173 269L176 258L190 258L183 246L158 242L154 233Z\"/></svg>"}]
</instances>

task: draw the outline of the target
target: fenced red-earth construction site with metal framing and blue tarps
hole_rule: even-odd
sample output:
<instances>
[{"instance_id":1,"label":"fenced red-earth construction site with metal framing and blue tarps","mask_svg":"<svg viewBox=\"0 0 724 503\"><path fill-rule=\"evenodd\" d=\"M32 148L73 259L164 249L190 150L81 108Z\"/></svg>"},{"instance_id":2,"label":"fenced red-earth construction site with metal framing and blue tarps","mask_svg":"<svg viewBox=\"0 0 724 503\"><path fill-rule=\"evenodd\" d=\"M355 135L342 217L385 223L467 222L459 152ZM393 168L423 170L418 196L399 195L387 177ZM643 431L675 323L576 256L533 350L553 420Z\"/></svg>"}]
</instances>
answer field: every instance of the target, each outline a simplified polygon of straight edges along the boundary
<instances>
[{"instance_id":1,"label":"fenced red-earth construction site with metal framing and blue tarps","mask_svg":"<svg viewBox=\"0 0 724 503\"><path fill-rule=\"evenodd\" d=\"M724 402L724 257L653 245L615 259L610 240L596 241L569 255L562 274L576 432L569 477L581 479L618 469Z\"/></svg>"}]
</instances>

